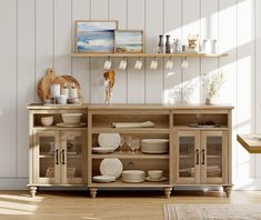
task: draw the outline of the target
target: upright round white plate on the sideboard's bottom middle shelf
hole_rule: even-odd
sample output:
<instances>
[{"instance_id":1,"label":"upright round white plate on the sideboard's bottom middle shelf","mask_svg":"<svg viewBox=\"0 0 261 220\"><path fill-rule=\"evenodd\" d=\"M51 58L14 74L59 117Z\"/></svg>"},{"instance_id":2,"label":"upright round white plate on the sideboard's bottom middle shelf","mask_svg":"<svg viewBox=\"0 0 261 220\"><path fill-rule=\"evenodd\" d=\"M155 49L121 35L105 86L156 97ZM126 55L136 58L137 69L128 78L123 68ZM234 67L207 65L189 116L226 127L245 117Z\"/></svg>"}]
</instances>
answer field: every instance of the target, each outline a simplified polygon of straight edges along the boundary
<instances>
[{"instance_id":1,"label":"upright round white plate on the sideboard's bottom middle shelf","mask_svg":"<svg viewBox=\"0 0 261 220\"><path fill-rule=\"evenodd\" d=\"M122 170L122 162L117 158L106 158L101 161L100 172L102 176L114 176L118 179Z\"/></svg>"}]
</instances>

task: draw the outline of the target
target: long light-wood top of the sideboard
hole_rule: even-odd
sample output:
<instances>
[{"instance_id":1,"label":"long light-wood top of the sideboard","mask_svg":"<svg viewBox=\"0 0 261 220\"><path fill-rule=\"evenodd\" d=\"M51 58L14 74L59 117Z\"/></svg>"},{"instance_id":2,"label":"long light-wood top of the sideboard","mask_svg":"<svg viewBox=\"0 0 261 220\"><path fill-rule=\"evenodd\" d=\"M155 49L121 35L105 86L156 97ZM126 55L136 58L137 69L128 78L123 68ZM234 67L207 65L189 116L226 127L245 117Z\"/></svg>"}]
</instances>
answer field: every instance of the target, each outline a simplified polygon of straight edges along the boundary
<instances>
[{"instance_id":1,"label":"long light-wood top of the sideboard","mask_svg":"<svg viewBox=\"0 0 261 220\"><path fill-rule=\"evenodd\" d=\"M179 104L141 104L141 103L113 103L113 104L92 104L92 103L83 103L81 106L44 106L41 103L32 103L27 107L29 110L224 110L224 109L233 109L230 104L204 104L204 103L179 103Z\"/></svg>"}]
</instances>

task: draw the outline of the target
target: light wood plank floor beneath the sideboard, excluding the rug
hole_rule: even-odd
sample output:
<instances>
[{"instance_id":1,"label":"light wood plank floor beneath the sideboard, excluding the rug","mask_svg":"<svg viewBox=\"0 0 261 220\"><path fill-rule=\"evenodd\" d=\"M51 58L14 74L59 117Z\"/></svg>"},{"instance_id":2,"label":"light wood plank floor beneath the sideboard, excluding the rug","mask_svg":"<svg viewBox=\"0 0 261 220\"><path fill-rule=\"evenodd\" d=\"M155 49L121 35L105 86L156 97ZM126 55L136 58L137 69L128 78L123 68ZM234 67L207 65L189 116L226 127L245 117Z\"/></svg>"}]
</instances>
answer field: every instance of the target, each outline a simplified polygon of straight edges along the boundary
<instances>
[{"instance_id":1,"label":"light wood plank floor beneath the sideboard, excluding the rug","mask_svg":"<svg viewBox=\"0 0 261 220\"><path fill-rule=\"evenodd\" d=\"M165 199L161 191L99 191L97 199L80 191L0 191L0 219L12 220L161 220L165 203L260 203L261 191L221 192L175 191Z\"/></svg>"}]
</instances>

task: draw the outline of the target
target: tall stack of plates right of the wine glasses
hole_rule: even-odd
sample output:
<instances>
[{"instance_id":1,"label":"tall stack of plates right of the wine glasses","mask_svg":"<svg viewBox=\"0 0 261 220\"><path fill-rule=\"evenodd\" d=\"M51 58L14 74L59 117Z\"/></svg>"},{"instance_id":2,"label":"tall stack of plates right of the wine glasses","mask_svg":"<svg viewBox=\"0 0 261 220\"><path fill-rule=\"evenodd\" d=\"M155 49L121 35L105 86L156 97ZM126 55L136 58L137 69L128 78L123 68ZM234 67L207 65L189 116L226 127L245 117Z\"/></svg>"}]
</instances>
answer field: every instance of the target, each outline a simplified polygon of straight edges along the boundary
<instances>
[{"instance_id":1,"label":"tall stack of plates right of the wine glasses","mask_svg":"<svg viewBox=\"0 0 261 220\"><path fill-rule=\"evenodd\" d=\"M168 139L142 139L141 151L143 153L168 153L169 140Z\"/></svg>"}]
</instances>

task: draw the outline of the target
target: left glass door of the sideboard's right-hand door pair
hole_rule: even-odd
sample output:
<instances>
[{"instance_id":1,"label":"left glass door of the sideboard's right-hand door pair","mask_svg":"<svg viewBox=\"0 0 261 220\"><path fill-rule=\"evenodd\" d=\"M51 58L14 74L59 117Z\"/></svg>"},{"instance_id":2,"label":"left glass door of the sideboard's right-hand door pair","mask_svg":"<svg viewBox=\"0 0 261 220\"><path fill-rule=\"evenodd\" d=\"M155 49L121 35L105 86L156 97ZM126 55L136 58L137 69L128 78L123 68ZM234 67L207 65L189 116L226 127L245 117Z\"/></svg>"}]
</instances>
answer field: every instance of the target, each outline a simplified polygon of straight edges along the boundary
<instances>
[{"instance_id":1,"label":"left glass door of the sideboard's right-hand door pair","mask_svg":"<svg viewBox=\"0 0 261 220\"><path fill-rule=\"evenodd\" d=\"M199 131L178 131L178 183L200 182Z\"/></svg>"}]
</instances>

